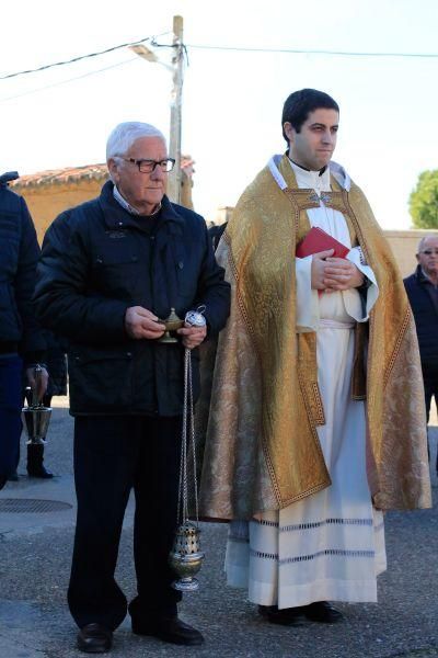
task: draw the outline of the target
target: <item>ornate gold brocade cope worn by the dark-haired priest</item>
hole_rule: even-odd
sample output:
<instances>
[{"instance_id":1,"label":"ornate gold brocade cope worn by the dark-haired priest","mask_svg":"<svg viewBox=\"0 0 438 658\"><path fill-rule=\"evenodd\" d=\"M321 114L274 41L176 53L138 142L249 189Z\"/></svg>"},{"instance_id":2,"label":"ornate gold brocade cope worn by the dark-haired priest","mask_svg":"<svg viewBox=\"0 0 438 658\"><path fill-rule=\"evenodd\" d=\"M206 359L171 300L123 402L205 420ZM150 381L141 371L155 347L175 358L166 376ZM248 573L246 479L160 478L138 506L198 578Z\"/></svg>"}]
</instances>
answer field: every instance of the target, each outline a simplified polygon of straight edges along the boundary
<instances>
[{"instance_id":1,"label":"ornate gold brocade cope worn by the dark-haired priest","mask_svg":"<svg viewBox=\"0 0 438 658\"><path fill-rule=\"evenodd\" d=\"M200 404L207 518L250 519L331 485L316 432L324 424L316 334L296 326L296 246L320 197L298 188L286 156L277 178L275 169L263 169L242 194L217 252L232 309L208 413ZM384 510L429 507L423 378L402 277L360 189L333 174L331 188L321 202L344 215L351 247L360 246L379 285L369 322L356 325L351 382L351 396L366 399L372 500Z\"/></svg>"}]
</instances>

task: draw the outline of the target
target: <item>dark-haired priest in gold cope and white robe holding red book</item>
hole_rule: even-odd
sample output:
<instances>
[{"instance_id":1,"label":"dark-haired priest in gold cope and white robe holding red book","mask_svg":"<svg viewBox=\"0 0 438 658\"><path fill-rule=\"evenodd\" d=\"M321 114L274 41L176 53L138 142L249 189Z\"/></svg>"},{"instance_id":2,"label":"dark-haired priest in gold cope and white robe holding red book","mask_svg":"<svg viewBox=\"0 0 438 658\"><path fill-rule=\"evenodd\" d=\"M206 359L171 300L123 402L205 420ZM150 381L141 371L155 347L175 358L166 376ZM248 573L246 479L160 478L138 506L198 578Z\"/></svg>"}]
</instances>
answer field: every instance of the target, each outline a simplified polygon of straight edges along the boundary
<instances>
[{"instance_id":1,"label":"dark-haired priest in gold cope and white robe holding red book","mask_svg":"<svg viewBox=\"0 0 438 658\"><path fill-rule=\"evenodd\" d=\"M331 161L338 123L324 92L286 100L287 152L245 190L217 250L232 302L201 513L231 521L228 582L277 624L376 601L382 510L430 504L415 326L364 193Z\"/></svg>"}]
</instances>

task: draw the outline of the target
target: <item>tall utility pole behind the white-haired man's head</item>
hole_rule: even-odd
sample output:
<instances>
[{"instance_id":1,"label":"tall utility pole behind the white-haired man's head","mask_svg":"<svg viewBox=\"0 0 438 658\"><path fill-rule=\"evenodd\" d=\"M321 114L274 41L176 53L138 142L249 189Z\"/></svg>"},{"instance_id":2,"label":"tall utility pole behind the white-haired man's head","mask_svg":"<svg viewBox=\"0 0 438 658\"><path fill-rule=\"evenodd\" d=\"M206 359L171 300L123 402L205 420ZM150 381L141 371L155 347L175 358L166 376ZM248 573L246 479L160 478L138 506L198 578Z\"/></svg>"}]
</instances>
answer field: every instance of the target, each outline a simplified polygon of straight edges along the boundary
<instances>
[{"instance_id":1,"label":"tall utility pole behind the white-haired man's head","mask_svg":"<svg viewBox=\"0 0 438 658\"><path fill-rule=\"evenodd\" d=\"M169 155L175 158L175 167L169 177L168 195L174 203L181 200L181 135L183 111L183 16L173 16L173 88L171 97L171 132Z\"/></svg>"}]
</instances>

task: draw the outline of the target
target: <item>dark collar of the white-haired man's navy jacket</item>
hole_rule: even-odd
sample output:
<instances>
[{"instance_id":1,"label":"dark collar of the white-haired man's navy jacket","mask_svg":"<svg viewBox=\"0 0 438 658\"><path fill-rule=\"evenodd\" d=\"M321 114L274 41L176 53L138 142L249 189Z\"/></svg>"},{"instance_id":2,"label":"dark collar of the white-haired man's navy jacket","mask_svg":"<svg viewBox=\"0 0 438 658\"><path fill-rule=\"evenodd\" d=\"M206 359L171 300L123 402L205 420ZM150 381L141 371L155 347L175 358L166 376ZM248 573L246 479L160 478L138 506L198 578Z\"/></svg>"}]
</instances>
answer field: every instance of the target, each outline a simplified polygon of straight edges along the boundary
<instances>
[{"instance_id":1,"label":"dark collar of the white-haired man's navy jacket","mask_svg":"<svg viewBox=\"0 0 438 658\"><path fill-rule=\"evenodd\" d=\"M99 197L106 226L113 230L138 228L138 222L141 220L141 215L131 215L127 209L122 207L114 198L113 188L113 181L106 181ZM169 201L166 195L164 195L161 201L160 223L161 222L168 224L171 234L183 232L184 218L176 212L174 205Z\"/></svg>"}]
</instances>

